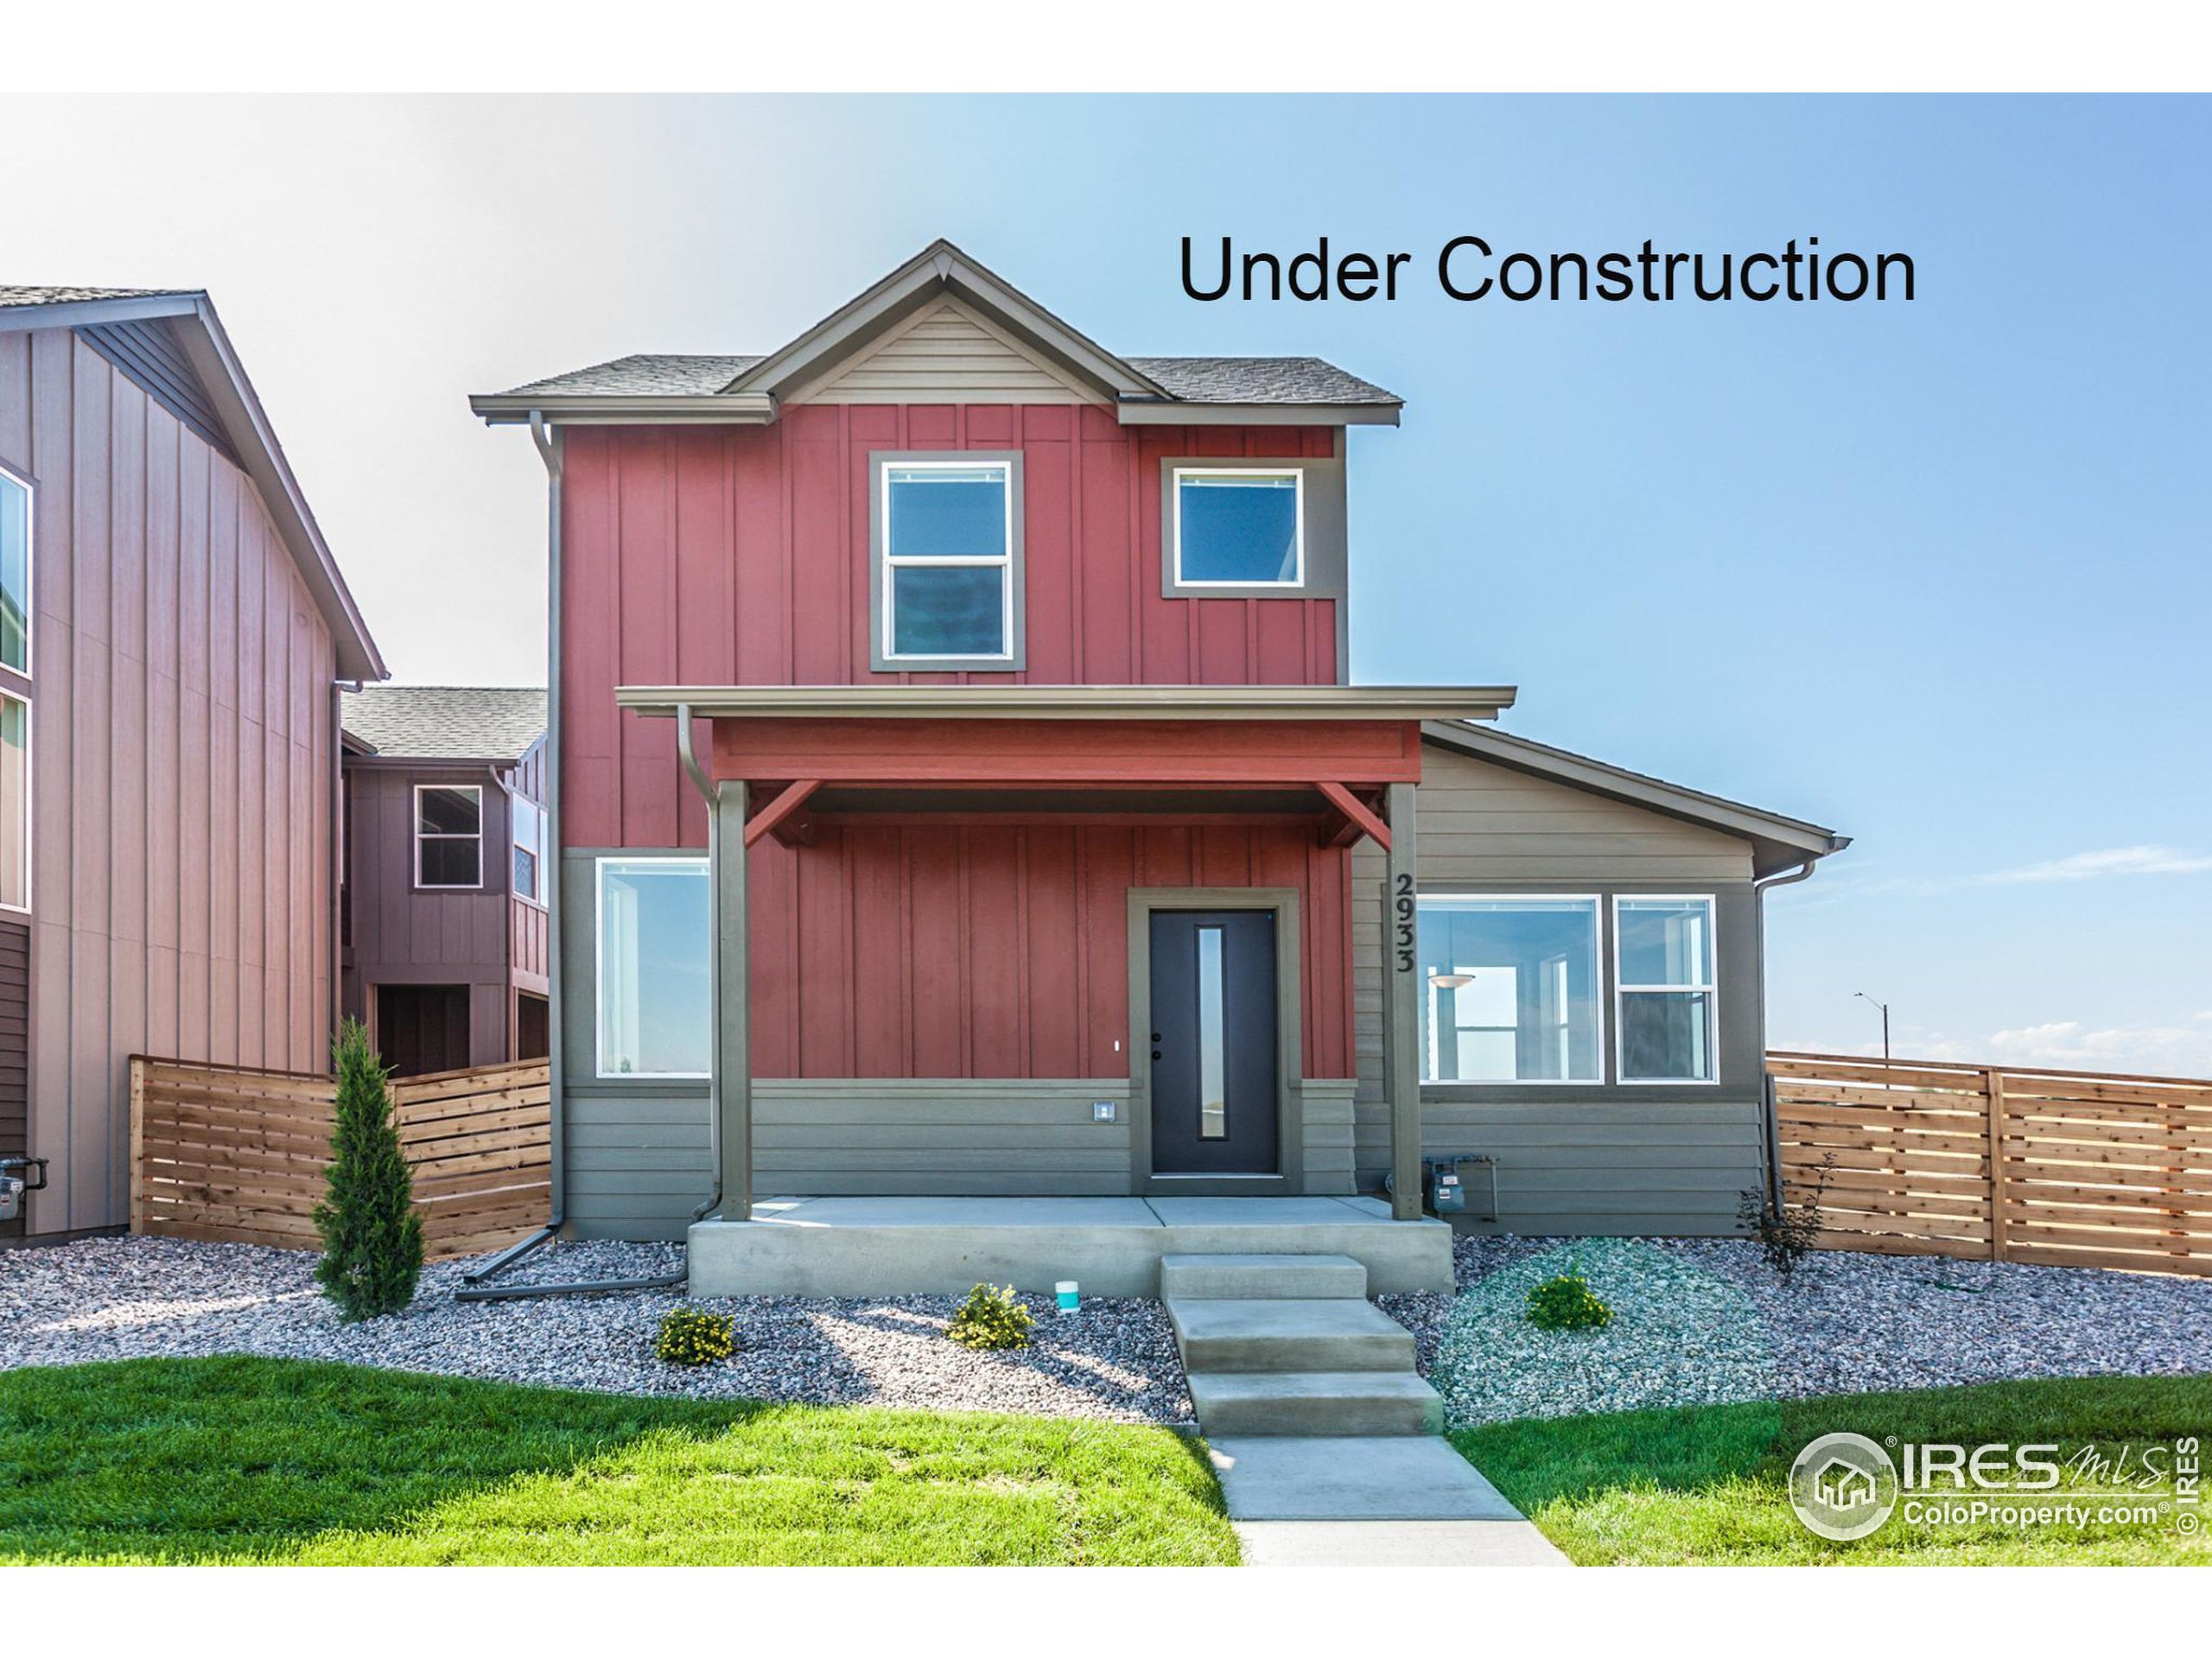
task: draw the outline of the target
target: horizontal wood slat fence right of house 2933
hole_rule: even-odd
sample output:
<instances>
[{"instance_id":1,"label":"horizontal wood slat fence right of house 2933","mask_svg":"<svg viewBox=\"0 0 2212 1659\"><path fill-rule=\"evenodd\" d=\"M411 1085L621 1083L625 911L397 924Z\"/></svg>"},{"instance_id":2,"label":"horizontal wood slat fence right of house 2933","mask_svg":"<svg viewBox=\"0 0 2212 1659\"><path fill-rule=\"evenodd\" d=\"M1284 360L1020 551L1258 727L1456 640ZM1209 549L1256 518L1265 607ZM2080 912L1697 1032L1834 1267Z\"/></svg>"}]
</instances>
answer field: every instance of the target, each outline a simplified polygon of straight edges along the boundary
<instances>
[{"instance_id":1,"label":"horizontal wood slat fence right of house 2933","mask_svg":"<svg viewBox=\"0 0 2212 1659\"><path fill-rule=\"evenodd\" d=\"M2212 1079L1767 1055L1783 1197L1820 1243L2212 1274Z\"/></svg>"}]
</instances>

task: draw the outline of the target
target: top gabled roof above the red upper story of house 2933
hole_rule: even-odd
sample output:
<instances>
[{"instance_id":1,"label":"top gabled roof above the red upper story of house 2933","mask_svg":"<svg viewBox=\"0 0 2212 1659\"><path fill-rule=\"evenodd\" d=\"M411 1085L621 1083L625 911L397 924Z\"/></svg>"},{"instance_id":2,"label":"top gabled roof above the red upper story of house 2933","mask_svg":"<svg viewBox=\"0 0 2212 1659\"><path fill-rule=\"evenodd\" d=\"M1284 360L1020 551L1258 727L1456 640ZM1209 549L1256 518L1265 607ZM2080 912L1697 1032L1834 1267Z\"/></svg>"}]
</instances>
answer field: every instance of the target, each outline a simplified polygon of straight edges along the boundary
<instances>
[{"instance_id":1,"label":"top gabled roof above the red upper story of house 2933","mask_svg":"<svg viewBox=\"0 0 2212 1659\"><path fill-rule=\"evenodd\" d=\"M529 420L768 422L781 400L951 294L1095 387L1124 425L1241 420L1396 425L1402 398L1312 356L1117 356L938 239L765 356L635 354L469 398L491 425Z\"/></svg>"}]
</instances>

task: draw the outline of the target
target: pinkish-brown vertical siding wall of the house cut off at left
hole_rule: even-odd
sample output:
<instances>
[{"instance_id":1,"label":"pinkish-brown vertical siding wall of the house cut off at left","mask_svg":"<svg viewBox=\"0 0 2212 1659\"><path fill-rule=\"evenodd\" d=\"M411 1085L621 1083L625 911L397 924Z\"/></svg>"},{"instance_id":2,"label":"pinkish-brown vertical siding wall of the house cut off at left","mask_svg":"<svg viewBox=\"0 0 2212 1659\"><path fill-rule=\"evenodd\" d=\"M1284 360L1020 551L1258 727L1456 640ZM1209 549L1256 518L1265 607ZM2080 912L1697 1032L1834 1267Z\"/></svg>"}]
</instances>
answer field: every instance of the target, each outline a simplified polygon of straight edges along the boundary
<instances>
[{"instance_id":1,"label":"pinkish-brown vertical siding wall of the house cut off at left","mask_svg":"<svg viewBox=\"0 0 2212 1659\"><path fill-rule=\"evenodd\" d=\"M131 1053L316 1068L334 659L252 482L69 330L0 334L29 469L40 1232L128 1208Z\"/></svg>"}]
</instances>

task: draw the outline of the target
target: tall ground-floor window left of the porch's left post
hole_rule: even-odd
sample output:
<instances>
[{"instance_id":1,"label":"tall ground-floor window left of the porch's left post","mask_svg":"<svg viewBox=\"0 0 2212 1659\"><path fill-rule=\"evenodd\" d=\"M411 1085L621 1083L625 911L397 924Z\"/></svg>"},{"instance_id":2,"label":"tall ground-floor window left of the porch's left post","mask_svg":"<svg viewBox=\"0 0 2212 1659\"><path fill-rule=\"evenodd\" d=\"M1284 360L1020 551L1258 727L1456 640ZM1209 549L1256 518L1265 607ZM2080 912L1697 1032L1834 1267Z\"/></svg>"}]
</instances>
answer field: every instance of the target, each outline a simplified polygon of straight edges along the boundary
<instances>
[{"instance_id":1,"label":"tall ground-floor window left of the porch's left post","mask_svg":"<svg viewBox=\"0 0 2212 1659\"><path fill-rule=\"evenodd\" d=\"M706 1077L712 891L706 858L599 860L599 1075Z\"/></svg>"}]
</instances>

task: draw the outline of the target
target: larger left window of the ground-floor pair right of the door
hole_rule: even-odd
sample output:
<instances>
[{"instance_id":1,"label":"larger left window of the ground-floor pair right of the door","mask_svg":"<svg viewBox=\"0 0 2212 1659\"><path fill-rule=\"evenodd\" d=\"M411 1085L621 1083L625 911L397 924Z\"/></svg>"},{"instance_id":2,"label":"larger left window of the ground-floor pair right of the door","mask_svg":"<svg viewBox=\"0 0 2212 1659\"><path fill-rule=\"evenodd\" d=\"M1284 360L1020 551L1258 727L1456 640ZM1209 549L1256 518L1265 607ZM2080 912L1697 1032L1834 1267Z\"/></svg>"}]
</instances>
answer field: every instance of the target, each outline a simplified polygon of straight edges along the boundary
<instances>
[{"instance_id":1,"label":"larger left window of the ground-floor pair right of the door","mask_svg":"<svg viewBox=\"0 0 2212 1659\"><path fill-rule=\"evenodd\" d=\"M1597 898L1422 896L1422 1077L1597 1084Z\"/></svg>"}]
</instances>

